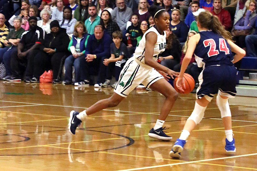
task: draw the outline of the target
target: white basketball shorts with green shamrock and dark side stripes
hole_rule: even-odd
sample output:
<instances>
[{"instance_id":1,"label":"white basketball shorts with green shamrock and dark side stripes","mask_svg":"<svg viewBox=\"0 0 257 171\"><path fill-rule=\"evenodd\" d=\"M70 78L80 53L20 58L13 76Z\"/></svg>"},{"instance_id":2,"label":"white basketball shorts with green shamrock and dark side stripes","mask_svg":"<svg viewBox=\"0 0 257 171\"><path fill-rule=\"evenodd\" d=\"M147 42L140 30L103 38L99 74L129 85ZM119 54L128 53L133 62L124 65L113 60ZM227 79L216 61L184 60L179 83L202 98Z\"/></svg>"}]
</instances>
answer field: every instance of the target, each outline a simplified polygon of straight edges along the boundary
<instances>
[{"instance_id":1,"label":"white basketball shorts with green shamrock and dark side stripes","mask_svg":"<svg viewBox=\"0 0 257 171\"><path fill-rule=\"evenodd\" d=\"M122 97L127 97L139 84L142 83L146 88L149 88L154 82L161 78L164 77L154 68L141 66L131 57L121 71L114 92Z\"/></svg>"}]
</instances>

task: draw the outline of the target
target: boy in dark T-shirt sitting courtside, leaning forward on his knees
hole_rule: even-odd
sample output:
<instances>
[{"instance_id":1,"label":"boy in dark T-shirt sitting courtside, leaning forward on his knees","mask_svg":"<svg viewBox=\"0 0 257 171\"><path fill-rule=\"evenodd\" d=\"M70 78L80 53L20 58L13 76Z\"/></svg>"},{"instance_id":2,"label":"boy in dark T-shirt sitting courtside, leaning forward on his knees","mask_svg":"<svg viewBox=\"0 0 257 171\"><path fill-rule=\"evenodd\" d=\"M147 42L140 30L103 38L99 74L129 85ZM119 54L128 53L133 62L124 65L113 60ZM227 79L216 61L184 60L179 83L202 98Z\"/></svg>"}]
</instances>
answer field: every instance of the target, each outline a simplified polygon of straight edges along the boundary
<instances>
[{"instance_id":1,"label":"boy in dark T-shirt sitting courtside, leaning forward on his knees","mask_svg":"<svg viewBox=\"0 0 257 171\"><path fill-rule=\"evenodd\" d=\"M112 71L115 70L115 83L111 85L111 87L115 88L117 81L119 80L121 70L123 69L123 66L127 62L130 55L128 53L126 45L123 42L121 42L122 33L120 31L115 31L113 32L112 37L113 43L111 44L111 57L109 59L105 59L103 62L104 65L107 66L107 80L103 84L103 87L110 86L113 73Z\"/></svg>"}]
</instances>

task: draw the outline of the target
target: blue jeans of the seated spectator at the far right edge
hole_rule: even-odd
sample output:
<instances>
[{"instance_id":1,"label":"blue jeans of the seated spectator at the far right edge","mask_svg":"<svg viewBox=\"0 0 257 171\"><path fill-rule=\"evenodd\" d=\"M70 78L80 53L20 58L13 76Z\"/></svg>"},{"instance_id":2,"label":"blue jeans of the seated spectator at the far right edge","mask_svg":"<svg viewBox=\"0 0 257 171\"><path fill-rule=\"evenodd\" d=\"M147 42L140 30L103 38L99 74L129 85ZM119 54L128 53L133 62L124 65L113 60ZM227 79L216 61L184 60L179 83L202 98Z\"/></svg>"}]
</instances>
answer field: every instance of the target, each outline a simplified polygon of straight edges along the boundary
<instances>
[{"instance_id":1,"label":"blue jeans of the seated spectator at the far right edge","mask_svg":"<svg viewBox=\"0 0 257 171\"><path fill-rule=\"evenodd\" d=\"M246 44L246 54L250 57L256 57L256 48L257 48L257 35L248 35L245 38L245 44Z\"/></svg>"}]
</instances>

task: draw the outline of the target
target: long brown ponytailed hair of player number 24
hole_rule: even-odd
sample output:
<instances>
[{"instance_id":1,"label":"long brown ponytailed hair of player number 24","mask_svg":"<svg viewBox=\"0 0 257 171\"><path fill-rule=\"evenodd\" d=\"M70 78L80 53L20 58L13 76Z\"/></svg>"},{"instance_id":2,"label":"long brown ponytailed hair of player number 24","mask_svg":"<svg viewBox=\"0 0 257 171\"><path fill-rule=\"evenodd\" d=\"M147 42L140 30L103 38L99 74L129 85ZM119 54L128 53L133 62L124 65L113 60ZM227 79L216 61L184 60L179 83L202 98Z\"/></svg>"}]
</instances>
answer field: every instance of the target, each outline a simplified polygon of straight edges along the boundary
<instances>
[{"instance_id":1,"label":"long brown ponytailed hair of player number 24","mask_svg":"<svg viewBox=\"0 0 257 171\"><path fill-rule=\"evenodd\" d=\"M201 27L220 34L226 40L232 40L230 32L225 30L218 17L212 15L209 11L201 12L197 17L197 21L200 23Z\"/></svg>"}]
</instances>

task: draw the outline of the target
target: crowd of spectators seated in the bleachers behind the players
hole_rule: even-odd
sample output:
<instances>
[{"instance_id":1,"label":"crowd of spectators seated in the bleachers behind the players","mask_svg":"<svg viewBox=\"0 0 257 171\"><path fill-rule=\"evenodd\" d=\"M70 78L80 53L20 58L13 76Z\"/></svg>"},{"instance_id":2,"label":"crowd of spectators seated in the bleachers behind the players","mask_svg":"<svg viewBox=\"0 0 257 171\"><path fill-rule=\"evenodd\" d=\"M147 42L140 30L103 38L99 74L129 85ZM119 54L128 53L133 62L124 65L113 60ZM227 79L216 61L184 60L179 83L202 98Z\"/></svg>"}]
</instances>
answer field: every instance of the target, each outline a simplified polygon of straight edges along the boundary
<instances>
[{"instance_id":1,"label":"crowd of spectators seated in the bleachers behind the players","mask_svg":"<svg viewBox=\"0 0 257 171\"><path fill-rule=\"evenodd\" d=\"M247 56L257 57L255 0L1 0L3 80L39 82L45 70L53 70L55 84L115 87L112 76L118 80L142 35L154 27L152 4L170 15L160 64L180 70L187 42L198 32L195 16L204 10L218 17ZM192 58L186 72L196 84L200 71Z\"/></svg>"}]
</instances>

